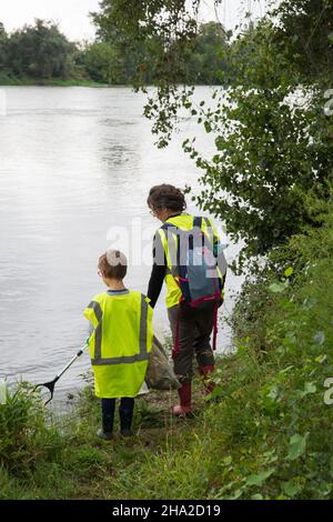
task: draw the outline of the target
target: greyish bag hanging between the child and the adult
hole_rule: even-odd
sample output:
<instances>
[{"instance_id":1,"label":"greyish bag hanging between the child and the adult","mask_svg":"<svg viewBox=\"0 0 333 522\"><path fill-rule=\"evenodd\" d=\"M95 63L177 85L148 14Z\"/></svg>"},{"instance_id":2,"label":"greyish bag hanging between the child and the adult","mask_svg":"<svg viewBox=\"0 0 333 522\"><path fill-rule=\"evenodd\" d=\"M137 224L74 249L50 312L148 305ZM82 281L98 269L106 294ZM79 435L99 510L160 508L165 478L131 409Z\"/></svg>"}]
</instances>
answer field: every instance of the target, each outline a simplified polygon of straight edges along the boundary
<instances>
[{"instance_id":1,"label":"greyish bag hanging between the child and the adult","mask_svg":"<svg viewBox=\"0 0 333 522\"><path fill-rule=\"evenodd\" d=\"M179 390L179 383L161 342L154 337L145 374L148 388L154 390Z\"/></svg>"}]
</instances>

